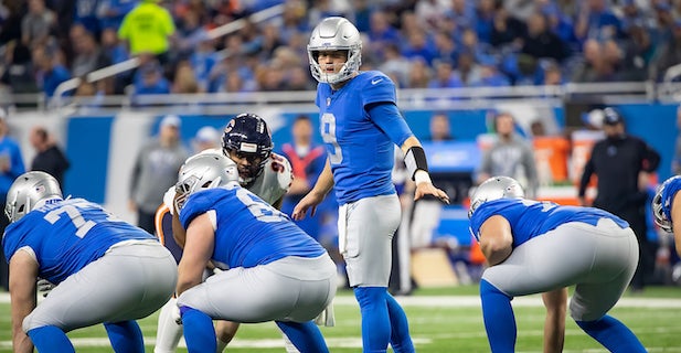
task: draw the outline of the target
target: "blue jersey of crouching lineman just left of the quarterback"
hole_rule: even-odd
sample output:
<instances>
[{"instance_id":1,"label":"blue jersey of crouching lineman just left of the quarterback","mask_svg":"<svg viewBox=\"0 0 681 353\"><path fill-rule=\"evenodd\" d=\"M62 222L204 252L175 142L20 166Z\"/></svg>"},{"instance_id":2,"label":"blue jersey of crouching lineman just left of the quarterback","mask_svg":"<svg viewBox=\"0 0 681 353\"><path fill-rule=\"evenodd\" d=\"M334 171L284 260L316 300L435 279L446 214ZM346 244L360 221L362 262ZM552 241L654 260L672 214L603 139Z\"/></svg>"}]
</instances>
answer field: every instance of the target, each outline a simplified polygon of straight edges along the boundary
<instances>
[{"instance_id":1,"label":"blue jersey of crouching lineman just left of the quarterback","mask_svg":"<svg viewBox=\"0 0 681 353\"><path fill-rule=\"evenodd\" d=\"M180 212L180 222L187 229L192 220L206 212L215 213L211 259L221 267L248 268L287 256L318 257L326 253L288 216L236 183L192 194Z\"/></svg>"}]
</instances>

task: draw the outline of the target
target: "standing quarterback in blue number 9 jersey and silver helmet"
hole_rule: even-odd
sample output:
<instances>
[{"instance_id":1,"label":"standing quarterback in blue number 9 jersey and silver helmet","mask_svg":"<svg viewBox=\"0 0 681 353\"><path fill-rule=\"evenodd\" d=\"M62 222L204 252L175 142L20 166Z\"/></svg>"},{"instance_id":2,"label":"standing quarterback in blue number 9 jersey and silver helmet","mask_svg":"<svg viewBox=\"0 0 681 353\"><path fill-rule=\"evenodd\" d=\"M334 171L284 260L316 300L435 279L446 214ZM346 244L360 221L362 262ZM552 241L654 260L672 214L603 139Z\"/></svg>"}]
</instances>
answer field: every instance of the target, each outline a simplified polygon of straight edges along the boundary
<instances>
[{"instance_id":1,"label":"standing quarterback in blue number 9 jersey and silver helmet","mask_svg":"<svg viewBox=\"0 0 681 353\"><path fill-rule=\"evenodd\" d=\"M328 158L292 216L315 214L336 188L339 250L360 303L364 352L385 352L389 342L395 352L413 352L406 315L387 292L391 242L401 220L391 179L394 145L406 156L416 200L449 199L430 181L421 142L397 109L395 85L381 72L360 72L361 52L360 33L347 19L327 18L312 31L308 54Z\"/></svg>"}]
</instances>

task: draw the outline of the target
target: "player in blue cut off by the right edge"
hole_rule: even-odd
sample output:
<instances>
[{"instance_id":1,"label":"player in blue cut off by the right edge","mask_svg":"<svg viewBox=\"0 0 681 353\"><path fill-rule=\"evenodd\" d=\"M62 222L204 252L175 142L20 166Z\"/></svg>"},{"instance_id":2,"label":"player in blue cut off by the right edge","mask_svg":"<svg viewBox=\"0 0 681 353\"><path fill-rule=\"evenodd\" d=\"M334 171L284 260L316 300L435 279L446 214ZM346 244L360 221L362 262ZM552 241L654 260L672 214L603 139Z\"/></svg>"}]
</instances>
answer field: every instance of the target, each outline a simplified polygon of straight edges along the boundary
<instances>
[{"instance_id":1,"label":"player in blue cut off by the right edge","mask_svg":"<svg viewBox=\"0 0 681 353\"><path fill-rule=\"evenodd\" d=\"M664 232L674 235L677 254L681 256L681 227L674 228L674 220L681 222L681 175L671 176L658 188L652 197L655 223Z\"/></svg>"}]
</instances>

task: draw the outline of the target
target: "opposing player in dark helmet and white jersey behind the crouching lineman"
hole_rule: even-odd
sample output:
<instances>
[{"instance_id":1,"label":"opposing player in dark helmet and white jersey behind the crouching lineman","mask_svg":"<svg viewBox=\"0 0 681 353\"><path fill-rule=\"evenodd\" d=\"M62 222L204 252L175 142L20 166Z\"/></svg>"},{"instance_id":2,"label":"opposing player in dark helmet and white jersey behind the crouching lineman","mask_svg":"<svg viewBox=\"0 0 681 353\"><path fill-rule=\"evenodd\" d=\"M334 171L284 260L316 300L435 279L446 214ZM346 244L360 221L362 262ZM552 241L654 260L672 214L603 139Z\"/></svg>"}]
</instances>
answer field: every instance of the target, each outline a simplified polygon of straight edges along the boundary
<instances>
[{"instance_id":1,"label":"opposing player in dark helmet and white jersey behind the crouching lineman","mask_svg":"<svg viewBox=\"0 0 681 353\"><path fill-rule=\"evenodd\" d=\"M270 132L265 120L255 114L240 114L225 127L222 138L222 151L209 149L201 153L224 153L238 165L238 178L242 186L248 189L268 204L279 208L284 195L292 180L290 163L285 158L273 153ZM156 229L161 242L180 261L182 249L175 244L172 235L172 200L174 188L163 197L163 204L156 213ZM175 323L173 310L177 310L175 299L169 300L159 314L157 327L156 353L174 352L182 327ZM234 338L238 323L217 321L217 349L222 352ZM286 341L286 340L285 340ZM288 352L297 350L286 341Z\"/></svg>"}]
</instances>

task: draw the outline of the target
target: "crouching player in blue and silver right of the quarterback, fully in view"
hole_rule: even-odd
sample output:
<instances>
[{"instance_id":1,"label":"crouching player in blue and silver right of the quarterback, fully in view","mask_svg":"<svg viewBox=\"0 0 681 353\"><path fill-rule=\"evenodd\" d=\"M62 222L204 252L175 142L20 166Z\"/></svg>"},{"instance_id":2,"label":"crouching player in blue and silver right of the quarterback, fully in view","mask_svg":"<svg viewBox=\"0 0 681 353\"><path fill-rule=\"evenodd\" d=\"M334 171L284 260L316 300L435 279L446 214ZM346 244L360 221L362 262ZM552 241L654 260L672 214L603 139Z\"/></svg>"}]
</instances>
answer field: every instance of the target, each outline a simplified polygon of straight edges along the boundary
<instances>
[{"instance_id":1,"label":"crouching player in blue and silver right of the quarterback, fully in view","mask_svg":"<svg viewBox=\"0 0 681 353\"><path fill-rule=\"evenodd\" d=\"M610 352L646 352L624 323L607 314L638 263L629 224L599 208L523 195L518 181L494 176L471 196L470 229L489 263L480 297L491 351L514 351L513 297L576 285L570 314L582 330Z\"/></svg>"}]
</instances>

